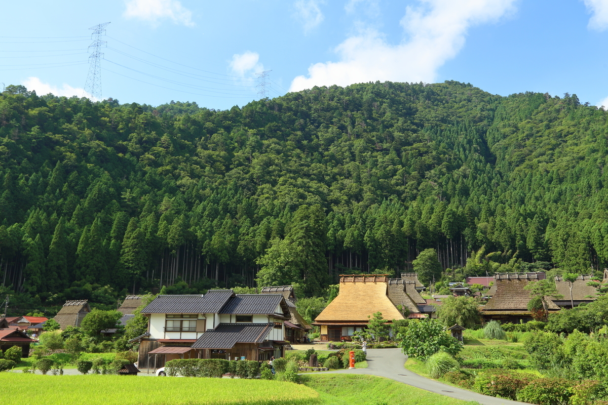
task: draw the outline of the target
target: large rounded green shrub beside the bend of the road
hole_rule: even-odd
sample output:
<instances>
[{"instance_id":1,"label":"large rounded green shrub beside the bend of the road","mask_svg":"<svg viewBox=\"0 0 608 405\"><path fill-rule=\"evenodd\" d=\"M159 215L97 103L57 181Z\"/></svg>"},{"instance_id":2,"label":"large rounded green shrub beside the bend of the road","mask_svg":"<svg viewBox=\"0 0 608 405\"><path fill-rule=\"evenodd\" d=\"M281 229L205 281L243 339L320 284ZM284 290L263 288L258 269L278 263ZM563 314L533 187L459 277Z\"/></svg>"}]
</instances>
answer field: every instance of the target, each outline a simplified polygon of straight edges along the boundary
<instances>
[{"instance_id":1,"label":"large rounded green shrub beside the bend of the road","mask_svg":"<svg viewBox=\"0 0 608 405\"><path fill-rule=\"evenodd\" d=\"M406 332L398 336L404 354L426 360L443 350L455 356L462 349L460 341L448 335L439 319L410 321Z\"/></svg>"}]
</instances>

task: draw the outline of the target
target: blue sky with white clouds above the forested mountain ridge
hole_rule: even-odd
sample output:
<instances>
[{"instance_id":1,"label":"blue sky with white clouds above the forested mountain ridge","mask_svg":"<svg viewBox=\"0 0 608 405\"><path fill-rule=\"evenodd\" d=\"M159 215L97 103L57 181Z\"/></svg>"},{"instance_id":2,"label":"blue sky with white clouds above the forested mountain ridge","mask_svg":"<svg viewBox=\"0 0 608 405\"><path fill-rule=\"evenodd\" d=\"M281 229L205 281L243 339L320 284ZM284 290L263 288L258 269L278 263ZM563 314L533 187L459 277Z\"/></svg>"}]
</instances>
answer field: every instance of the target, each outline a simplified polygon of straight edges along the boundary
<instances>
[{"instance_id":1,"label":"blue sky with white clouds above the forested mountain ridge","mask_svg":"<svg viewBox=\"0 0 608 405\"><path fill-rule=\"evenodd\" d=\"M608 0L4 2L0 86L82 96L106 27L102 98L228 109L364 81L457 80L608 106Z\"/></svg>"}]
</instances>

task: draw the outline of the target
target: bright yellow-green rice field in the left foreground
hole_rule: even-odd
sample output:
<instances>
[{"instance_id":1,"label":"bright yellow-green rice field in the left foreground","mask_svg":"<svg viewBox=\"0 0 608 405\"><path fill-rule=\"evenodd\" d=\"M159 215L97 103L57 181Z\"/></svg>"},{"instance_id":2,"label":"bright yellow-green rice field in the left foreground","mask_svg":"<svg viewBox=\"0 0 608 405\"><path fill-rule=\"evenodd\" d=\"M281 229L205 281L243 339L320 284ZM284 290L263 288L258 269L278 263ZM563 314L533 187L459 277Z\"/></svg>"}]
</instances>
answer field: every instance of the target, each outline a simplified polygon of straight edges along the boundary
<instances>
[{"instance_id":1,"label":"bright yellow-green rice field in the left foreground","mask_svg":"<svg viewBox=\"0 0 608 405\"><path fill-rule=\"evenodd\" d=\"M120 375L0 373L0 384L45 405L307 405L320 395L301 384L264 379L138 378ZM32 390L32 387L36 387ZM2 402L21 405L19 395Z\"/></svg>"}]
</instances>

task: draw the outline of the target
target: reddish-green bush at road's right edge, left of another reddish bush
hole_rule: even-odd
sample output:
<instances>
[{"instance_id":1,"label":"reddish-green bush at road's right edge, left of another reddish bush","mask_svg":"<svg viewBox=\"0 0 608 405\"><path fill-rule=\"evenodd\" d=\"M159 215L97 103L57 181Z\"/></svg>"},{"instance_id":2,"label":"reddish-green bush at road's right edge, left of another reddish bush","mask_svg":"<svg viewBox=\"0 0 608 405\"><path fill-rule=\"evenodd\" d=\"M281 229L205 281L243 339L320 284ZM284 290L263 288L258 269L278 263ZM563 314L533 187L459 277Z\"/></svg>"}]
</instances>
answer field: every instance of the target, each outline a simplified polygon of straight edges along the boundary
<instances>
[{"instance_id":1,"label":"reddish-green bush at road's right edge, left of another reddish bush","mask_svg":"<svg viewBox=\"0 0 608 405\"><path fill-rule=\"evenodd\" d=\"M533 378L534 376L528 373L499 369L487 370L477 375L474 389L484 395L515 400L517 392L530 384Z\"/></svg>"}]
</instances>

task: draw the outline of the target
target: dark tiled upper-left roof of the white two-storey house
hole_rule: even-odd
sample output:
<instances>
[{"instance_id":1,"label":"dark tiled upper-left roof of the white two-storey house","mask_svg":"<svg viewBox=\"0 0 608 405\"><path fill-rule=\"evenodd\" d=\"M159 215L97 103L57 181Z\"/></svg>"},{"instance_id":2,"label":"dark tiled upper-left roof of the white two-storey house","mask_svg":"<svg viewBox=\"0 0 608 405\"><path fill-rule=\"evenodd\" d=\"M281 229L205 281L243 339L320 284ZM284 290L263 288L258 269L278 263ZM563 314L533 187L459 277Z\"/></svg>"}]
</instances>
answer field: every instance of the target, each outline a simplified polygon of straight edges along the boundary
<instances>
[{"instance_id":1,"label":"dark tiled upper-left roof of the white two-storey house","mask_svg":"<svg viewBox=\"0 0 608 405\"><path fill-rule=\"evenodd\" d=\"M209 290L204 296L159 295L142 313L218 313L232 296L232 290Z\"/></svg>"}]
</instances>

